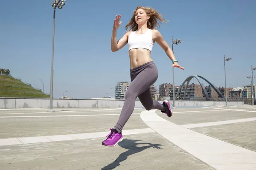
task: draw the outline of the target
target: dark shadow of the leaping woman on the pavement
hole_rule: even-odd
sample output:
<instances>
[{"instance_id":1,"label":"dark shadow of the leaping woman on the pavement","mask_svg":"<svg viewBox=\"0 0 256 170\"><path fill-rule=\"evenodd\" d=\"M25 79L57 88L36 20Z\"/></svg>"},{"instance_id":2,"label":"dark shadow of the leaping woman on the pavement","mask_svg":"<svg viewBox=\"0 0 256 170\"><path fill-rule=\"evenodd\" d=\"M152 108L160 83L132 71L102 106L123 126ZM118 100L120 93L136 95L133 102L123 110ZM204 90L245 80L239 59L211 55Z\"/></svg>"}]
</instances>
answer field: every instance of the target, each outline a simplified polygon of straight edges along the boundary
<instances>
[{"instance_id":1,"label":"dark shadow of the leaping woman on the pavement","mask_svg":"<svg viewBox=\"0 0 256 170\"><path fill-rule=\"evenodd\" d=\"M108 164L107 166L103 167L101 170L113 170L120 165L120 162L125 161L128 158L128 156L131 156L135 153L139 153L150 147L153 147L156 149L162 149L159 146L163 146L163 144L151 144L151 143L145 143L145 142L137 143L138 141L141 141L141 140L123 139L123 141L118 143L118 145L124 149L127 149L127 151L121 153L116 158L116 160L114 160L111 164ZM137 145L140 145L140 144L148 144L148 146L138 147Z\"/></svg>"}]
</instances>

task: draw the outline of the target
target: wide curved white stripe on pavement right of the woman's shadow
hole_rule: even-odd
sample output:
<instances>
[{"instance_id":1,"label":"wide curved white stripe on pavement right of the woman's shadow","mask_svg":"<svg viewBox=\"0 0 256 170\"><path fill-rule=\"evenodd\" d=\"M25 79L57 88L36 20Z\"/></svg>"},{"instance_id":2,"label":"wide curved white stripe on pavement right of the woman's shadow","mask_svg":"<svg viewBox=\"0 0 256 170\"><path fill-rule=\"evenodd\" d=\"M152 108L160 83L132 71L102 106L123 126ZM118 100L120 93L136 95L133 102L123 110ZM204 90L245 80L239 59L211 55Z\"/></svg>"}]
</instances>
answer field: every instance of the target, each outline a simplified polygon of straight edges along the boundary
<instances>
[{"instance_id":1,"label":"wide curved white stripe on pavement right of the woman's shadow","mask_svg":"<svg viewBox=\"0 0 256 170\"><path fill-rule=\"evenodd\" d=\"M161 118L155 111L143 111L140 114L146 125L216 170L255 170L256 152L176 125Z\"/></svg>"}]
</instances>

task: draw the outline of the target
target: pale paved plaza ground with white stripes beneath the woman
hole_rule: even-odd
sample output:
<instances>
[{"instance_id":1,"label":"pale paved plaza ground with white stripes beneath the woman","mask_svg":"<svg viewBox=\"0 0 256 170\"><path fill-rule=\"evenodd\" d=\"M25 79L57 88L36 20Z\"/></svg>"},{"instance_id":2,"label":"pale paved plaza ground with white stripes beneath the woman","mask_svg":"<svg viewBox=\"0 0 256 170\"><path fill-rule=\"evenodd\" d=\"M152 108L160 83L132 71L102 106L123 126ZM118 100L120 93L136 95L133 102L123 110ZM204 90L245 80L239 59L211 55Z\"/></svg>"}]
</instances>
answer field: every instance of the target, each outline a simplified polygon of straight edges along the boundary
<instances>
[{"instance_id":1,"label":"pale paved plaza ground with white stripes beneath the woman","mask_svg":"<svg viewBox=\"0 0 256 170\"><path fill-rule=\"evenodd\" d=\"M256 106L135 108L115 147L122 108L54 110L0 109L0 170L256 169Z\"/></svg>"}]
</instances>

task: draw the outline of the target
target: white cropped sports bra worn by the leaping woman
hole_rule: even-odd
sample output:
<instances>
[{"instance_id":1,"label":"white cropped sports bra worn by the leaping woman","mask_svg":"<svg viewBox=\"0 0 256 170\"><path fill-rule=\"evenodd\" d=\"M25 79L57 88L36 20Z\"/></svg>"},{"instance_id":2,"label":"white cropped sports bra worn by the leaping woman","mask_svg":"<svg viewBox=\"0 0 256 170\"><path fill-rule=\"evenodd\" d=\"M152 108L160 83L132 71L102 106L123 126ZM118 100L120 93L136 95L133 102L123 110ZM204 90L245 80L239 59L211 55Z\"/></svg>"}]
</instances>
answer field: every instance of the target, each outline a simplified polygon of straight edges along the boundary
<instances>
[{"instance_id":1,"label":"white cropped sports bra worn by the leaping woman","mask_svg":"<svg viewBox=\"0 0 256 170\"><path fill-rule=\"evenodd\" d=\"M152 40L152 30L148 29L144 34L135 34L135 31L132 31L128 39L128 48L129 50L133 48L145 48L152 51L153 48Z\"/></svg>"}]
</instances>

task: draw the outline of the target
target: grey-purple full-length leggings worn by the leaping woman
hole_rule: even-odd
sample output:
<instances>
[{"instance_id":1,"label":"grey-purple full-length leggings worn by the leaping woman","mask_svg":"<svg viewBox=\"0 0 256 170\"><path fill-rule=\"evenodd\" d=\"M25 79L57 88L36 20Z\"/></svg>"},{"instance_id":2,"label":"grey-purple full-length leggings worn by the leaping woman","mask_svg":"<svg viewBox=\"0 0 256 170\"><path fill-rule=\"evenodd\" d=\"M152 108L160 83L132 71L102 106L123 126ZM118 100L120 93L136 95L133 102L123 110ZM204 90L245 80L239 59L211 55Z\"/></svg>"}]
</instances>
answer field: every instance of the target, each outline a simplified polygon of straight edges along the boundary
<instances>
[{"instance_id":1,"label":"grey-purple full-length leggings worn by the leaping woman","mask_svg":"<svg viewBox=\"0 0 256 170\"><path fill-rule=\"evenodd\" d=\"M150 92L150 86L157 81L157 77L157 66L152 61L131 69L131 84L126 91L125 103L114 127L118 133L121 133L122 128L134 111L137 97L139 97L146 110L163 110L163 105L153 100Z\"/></svg>"}]
</instances>

